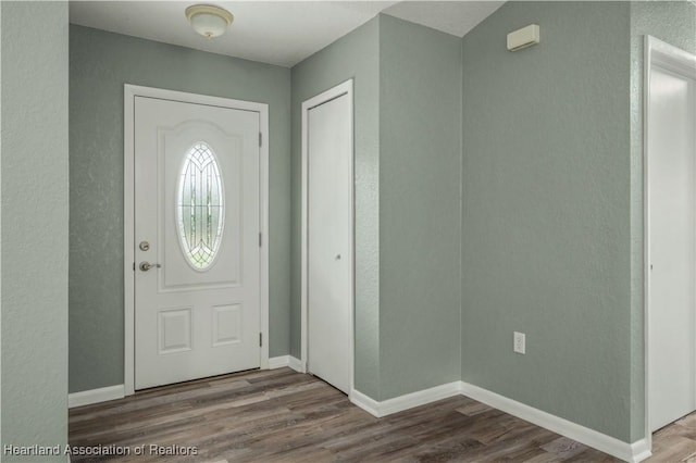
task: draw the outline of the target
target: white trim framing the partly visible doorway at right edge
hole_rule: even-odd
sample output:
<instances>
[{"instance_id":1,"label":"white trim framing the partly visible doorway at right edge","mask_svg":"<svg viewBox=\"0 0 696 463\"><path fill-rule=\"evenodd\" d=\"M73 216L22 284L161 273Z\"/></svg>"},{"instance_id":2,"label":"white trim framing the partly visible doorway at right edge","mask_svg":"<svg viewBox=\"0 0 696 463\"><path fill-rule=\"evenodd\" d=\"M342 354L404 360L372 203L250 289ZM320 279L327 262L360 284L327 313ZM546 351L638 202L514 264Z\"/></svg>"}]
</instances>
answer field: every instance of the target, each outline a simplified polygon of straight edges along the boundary
<instances>
[{"instance_id":1,"label":"white trim framing the partly visible doorway at right edge","mask_svg":"<svg viewBox=\"0 0 696 463\"><path fill-rule=\"evenodd\" d=\"M652 449L650 429L649 339L650 339L650 184L648 172L648 127L650 124L650 70L667 68L679 75L696 79L696 55L671 46L652 36L645 36L643 64L643 306L644 306L644 387L645 387L645 439ZM696 329L696 327L694 327Z\"/></svg>"}]
</instances>

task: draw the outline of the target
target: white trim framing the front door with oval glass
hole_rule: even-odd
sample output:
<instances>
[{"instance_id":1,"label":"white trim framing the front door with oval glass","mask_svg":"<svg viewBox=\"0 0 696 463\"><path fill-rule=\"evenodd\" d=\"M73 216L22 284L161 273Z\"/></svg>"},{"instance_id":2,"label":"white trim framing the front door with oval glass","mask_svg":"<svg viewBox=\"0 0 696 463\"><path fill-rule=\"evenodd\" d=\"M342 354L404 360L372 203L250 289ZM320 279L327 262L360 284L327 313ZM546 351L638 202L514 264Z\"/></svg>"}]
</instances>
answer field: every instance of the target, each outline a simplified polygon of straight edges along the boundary
<instances>
[{"instance_id":1,"label":"white trim framing the front door with oval glass","mask_svg":"<svg viewBox=\"0 0 696 463\"><path fill-rule=\"evenodd\" d=\"M263 345L261 347L261 368L269 367L269 105L229 98L187 93L161 88L125 84L123 88L123 245L124 245L124 390L129 396L135 392L135 147L134 117L135 97L159 98L186 103L208 104L259 113L261 130L260 148L260 228L263 236L260 249L260 313Z\"/></svg>"}]
</instances>

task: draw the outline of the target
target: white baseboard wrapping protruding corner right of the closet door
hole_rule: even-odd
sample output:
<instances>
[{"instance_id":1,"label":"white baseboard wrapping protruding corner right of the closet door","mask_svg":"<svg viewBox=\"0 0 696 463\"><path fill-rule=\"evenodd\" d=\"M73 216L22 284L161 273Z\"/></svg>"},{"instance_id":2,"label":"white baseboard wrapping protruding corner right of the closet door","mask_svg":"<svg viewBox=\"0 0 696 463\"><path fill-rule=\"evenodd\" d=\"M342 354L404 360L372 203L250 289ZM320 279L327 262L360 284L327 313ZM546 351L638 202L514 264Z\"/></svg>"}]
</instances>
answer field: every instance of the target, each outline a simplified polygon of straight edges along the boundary
<instances>
[{"instance_id":1,"label":"white baseboard wrapping protruding corner right of the closet door","mask_svg":"<svg viewBox=\"0 0 696 463\"><path fill-rule=\"evenodd\" d=\"M376 417L382 417L459 395L460 381L453 381L435 386L430 389L423 389L417 392L395 397L394 399L384 400L382 402L377 402L364 393L353 390L350 395L350 401L365 412Z\"/></svg>"}]
</instances>

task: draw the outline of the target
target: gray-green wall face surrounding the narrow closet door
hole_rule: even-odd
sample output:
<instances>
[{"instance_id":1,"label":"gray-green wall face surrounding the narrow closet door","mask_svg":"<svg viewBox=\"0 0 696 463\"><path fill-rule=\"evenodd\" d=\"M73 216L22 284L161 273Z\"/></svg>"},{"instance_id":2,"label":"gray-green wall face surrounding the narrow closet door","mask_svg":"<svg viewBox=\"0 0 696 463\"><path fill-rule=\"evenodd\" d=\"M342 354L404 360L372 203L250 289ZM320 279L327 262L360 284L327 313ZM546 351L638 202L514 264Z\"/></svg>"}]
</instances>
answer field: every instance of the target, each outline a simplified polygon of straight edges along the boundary
<instances>
[{"instance_id":1,"label":"gray-green wall face surrounding the narrow closet door","mask_svg":"<svg viewBox=\"0 0 696 463\"><path fill-rule=\"evenodd\" d=\"M355 99L355 385L380 396L380 21L373 18L293 67L293 317L300 358L302 101L349 78Z\"/></svg>"}]
</instances>

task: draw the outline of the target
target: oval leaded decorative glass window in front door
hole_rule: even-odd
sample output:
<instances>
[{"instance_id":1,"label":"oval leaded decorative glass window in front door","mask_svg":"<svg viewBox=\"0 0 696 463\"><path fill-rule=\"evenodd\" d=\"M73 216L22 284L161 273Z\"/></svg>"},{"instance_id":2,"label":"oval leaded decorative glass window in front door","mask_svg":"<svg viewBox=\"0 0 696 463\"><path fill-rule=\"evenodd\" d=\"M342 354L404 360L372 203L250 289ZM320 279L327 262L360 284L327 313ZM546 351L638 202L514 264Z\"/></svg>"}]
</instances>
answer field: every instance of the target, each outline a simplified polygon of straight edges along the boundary
<instances>
[{"instance_id":1,"label":"oval leaded decorative glass window in front door","mask_svg":"<svg viewBox=\"0 0 696 463\"><path fill-rule=\"evenodd\" d=\"M204 141L188 150L177 191L176 220L182 249L194 268L206 270L220 248L225 204L217 161Z\"/></svg>"}]
</instances>

